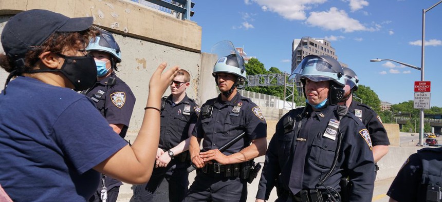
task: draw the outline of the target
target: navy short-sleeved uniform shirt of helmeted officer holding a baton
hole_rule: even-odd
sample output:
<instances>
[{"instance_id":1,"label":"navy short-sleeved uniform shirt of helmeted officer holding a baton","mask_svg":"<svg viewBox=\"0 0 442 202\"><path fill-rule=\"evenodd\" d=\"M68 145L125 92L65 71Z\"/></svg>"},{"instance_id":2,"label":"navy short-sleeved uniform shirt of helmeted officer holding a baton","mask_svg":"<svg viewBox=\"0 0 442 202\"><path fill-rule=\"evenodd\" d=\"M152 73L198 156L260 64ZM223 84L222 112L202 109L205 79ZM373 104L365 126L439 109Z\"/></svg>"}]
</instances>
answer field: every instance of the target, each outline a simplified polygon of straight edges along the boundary
<instances>
[{"instance_id":1,"label":"navy short-sleeved uniform shirt of helmeted officer holding a baton","mask_svg":"<svg viewBox=\"0 0 442 202\"><path fill-rule=\"evenodd\" d=\"M218 149L242 132L246 133L244 138L226 149L223 152L225 155L241 151L248 147L253 139L266 137L267 123L256 104L240 93L227 102L223 102L220 96L221 94L202 105L192 133L197 138L204 138L204 151ZM203 110L210 106L213 106L211 113L203 113Z\"/></svg>"}]
</instances>

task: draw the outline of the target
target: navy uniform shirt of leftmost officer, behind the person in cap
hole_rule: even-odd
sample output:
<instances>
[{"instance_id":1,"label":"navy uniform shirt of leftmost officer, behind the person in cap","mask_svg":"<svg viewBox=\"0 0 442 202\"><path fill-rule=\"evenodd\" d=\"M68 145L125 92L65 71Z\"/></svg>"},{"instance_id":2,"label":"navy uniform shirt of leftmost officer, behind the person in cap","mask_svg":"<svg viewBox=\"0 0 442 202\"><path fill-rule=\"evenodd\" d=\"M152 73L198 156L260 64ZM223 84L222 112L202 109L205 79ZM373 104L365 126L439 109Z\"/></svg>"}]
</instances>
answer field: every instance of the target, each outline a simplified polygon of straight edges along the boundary
<instances>
[{"instance_id":1,"label":"navy uniform shirt of leftmost officer, behind the person in cap","mask_svg":"<svg viewBox=\"0 0 442 202\"><path fill-rule=\"evenodd\" d=\"M115 79L115 84L112 84L111 77ZM120 133L120 136L124 137L135 105L135 96L131 88L112 73L81 93L94 101L97 109L109 124L124 125Z\"/></svg>"}]
</instances>

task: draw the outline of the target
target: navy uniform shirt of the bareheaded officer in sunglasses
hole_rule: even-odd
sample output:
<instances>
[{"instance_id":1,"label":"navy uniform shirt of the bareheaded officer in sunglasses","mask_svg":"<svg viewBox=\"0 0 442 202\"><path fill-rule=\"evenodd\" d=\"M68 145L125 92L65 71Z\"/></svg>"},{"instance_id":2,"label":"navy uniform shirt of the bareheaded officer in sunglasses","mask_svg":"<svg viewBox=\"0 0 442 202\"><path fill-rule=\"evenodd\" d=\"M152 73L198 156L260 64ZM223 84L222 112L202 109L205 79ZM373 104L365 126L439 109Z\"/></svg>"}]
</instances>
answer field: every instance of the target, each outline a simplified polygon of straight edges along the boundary
<instances>
[{"instance_id":1,"label":"navy uniform shirt of the bareheaded officer in sunglasses","mask_svg":"<svg viewBox=\"0 0 442 202\"><path fill-rule=\"evenodd\" d=\"M195 124L199 115L195 101L186 96L175 104L172 95L161 102L161 132L158 147L169 150L189 138L189 126Z\"/></svg>"}]
</instances>

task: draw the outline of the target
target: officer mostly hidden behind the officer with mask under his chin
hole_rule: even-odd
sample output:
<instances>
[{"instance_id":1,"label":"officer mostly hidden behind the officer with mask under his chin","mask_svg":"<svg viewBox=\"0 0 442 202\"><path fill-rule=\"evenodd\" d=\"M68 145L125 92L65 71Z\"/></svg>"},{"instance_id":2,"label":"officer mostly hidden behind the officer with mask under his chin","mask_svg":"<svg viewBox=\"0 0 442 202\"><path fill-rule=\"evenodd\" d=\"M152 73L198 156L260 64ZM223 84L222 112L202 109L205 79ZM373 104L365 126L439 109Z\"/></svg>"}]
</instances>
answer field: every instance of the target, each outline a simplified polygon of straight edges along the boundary
<instances>
[{"instance_id":1,"label":"officer mostly hidden behind the officer with mask under his chin","mask_svg":"<svg viewBox=\"0 0 442 202\"><path fill-rule=\"evenodd\" d=\"M359 79L356 73L352 69L344 68L344 76L347 79L343 101L348 107L348 111L355 114L364 123L365 128L369 130L373 144L373 158L377 163L388 152L388 146L390 145L388 135L379 115L369 106L353 100L353 92L357 91L359 87ZM377 170L379 170L379 167L376 165Z\"/></svg>"}]
</instances>

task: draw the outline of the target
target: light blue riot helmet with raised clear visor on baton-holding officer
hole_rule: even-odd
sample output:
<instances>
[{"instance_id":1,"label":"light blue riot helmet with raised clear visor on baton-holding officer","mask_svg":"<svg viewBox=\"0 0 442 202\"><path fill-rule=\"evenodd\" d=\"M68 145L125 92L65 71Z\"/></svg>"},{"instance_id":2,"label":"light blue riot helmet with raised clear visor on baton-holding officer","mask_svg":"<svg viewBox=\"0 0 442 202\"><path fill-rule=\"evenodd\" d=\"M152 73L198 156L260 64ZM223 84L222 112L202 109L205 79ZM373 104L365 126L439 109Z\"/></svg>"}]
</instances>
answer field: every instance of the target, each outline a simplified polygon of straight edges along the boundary
<instances>
[{"instance_id":1,"label":"light blue riot helmet with raised clear visor on baton-holding officer","mask_svg":"<svg viewBox=\"0 0 442 202\"><path fill-rule=\"evenodd\" d=\"M228 97L236 87L243 85L247 81L244 58L236 51L230 41L216 43L212 47L211 53L215 54L218 58L213 66L212 72L216 84L218 84L217 73L220 72L234 74L237 78L230 91L223 92L223 94Z\"/></svg>"}]
</instances>

